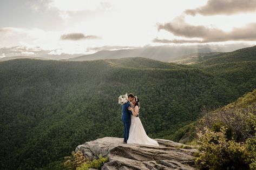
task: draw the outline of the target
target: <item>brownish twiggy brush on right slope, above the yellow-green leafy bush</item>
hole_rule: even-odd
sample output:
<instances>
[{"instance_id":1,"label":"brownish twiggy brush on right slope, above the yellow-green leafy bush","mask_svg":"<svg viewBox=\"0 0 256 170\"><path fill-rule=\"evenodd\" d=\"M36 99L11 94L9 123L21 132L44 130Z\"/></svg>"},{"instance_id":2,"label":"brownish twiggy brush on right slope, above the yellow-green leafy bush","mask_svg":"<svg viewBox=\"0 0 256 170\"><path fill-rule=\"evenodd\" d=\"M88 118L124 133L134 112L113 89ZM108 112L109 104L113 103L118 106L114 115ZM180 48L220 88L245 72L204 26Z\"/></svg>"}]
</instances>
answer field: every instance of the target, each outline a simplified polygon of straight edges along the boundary
<instances>
[{"instance_id":1,"label":"brownish twiggy brush on right slope, above the yellow-green leafy bush","mask_svg":"<svg viewBox=\"0 0 256 170\"><path fill-rule=\"evenodd\" d=\"M256 95L256 90L253 91L253 94ZM239 98L238 101L247 98L250 98L249 94ZM204 131L204 127L207 127L214 132L220 132L220 128L225 127L226 138L236 142L246 142L248 138L254 137L256 132L255 123L253 123L256 115L256 103L249 103L247 106L241 107L241 104L235 101L211 112L206 110L202 114L204 117L199 121L197 127L199 131Z\"/></svg>"}]
</instances>

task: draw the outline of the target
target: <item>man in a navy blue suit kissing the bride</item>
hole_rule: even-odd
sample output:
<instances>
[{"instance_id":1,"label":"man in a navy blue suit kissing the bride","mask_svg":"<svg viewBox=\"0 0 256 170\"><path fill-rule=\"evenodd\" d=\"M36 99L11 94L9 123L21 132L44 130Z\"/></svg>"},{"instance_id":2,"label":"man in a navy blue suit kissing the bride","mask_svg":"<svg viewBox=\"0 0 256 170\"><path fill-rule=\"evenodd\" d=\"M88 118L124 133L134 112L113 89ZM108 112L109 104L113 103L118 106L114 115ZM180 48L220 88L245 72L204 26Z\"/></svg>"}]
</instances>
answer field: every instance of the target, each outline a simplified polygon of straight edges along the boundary
<instances>
[{"instance_id":1,"label":"man in a navy blue suit kissing the bride","mask_svg":"<svg viewBox=\"0 0 256 170\"><path fill-rule=\"evenodd\" d=\"M124 125L124 139L123 143L127 143L127 140L129 138L129 131L130 131L130 115L132 115L132 111L128 110L128 107L130 106L130 101L134 99L134 95L132 93L128 94L128 101L127 103L122 105L122 121Z\"/></svg>"}]
</instances>

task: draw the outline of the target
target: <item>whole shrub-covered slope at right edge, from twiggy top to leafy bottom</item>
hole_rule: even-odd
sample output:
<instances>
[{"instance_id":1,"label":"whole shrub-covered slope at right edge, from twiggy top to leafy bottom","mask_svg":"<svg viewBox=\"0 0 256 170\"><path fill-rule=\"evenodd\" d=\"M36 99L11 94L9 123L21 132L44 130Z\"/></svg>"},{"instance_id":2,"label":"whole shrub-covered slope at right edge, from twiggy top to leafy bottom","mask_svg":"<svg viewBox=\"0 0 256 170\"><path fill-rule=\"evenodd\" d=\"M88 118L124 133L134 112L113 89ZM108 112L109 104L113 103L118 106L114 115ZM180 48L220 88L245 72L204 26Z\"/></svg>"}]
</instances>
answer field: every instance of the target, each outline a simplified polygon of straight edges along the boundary
<instances>
[{"instance_id":1,"label":"whole shrub-covered slope at right edge, from twiggy top to leafy bottom","mask_svg":"<svg viewBox=\"0 0 256 170\"><path fill-rule=\"evenodd\" d=\"M256 169L256 90L199 121L199 158L207 169Z\"/></svg>"}]
</instances>

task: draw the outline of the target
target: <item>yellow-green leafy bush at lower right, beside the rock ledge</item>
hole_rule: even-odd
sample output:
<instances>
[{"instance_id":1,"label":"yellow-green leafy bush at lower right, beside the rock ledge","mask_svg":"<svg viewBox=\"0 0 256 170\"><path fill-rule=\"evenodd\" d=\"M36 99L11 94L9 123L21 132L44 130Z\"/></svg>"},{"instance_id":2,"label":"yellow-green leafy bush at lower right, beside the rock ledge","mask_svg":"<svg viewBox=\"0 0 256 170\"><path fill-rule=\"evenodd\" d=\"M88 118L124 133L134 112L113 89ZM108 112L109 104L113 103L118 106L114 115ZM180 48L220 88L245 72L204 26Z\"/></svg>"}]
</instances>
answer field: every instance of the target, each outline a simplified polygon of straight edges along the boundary
<instances>
[{"instance_id":1,"label":"yellow-green leafy bush at lower right, beside the rock ledge","mask_svg":"<svg viewBox=\"0 0 256 170\"><path fill-rule=\"evenodd\" d=\"M226 128L220 132L205 129L199 132L200 156L196 164L209 169L248 169L248 150L242 142L226 140Z\"/></svg>"}]
</instances>

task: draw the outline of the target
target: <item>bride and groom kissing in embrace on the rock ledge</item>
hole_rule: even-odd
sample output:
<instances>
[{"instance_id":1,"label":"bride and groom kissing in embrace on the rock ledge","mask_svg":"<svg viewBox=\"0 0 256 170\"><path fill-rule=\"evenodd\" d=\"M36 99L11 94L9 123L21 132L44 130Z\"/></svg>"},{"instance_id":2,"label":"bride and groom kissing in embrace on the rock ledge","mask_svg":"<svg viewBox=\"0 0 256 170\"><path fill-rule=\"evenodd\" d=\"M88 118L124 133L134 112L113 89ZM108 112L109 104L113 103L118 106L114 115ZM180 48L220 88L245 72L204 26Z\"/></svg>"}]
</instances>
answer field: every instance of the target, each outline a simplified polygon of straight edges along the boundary
<instances>
[{"instance_id":1,"label":"bride and groom kissing in embrace on the rock ledge","mask_svg":"<svg viewBox=\"0 0 256 170\"><path fill-rule=\"evenodd\" d=\"M159 146L157 141L149 138L139 118L139 98L132 93L122 104L122 121L124 125L124 140L126 144L143 144Z\"/></svg>"}]
</instances>

